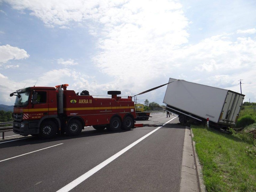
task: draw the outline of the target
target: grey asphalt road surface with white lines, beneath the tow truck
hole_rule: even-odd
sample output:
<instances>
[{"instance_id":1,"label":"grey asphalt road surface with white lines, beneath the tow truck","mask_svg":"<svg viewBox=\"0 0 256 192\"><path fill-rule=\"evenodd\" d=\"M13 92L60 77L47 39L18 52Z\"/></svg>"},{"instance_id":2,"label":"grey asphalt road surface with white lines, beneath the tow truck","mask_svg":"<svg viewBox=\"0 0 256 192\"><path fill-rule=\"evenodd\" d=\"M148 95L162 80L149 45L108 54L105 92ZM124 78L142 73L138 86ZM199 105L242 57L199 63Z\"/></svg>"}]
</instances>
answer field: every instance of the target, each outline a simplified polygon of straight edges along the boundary
<instances>
[{"instance_id":1,"label":"grey asphalt road surface with white lines, beneath the tow truck","mask_svg":"<svg viewBox=\"0 0 256 192\"><path fill-rule=\"evenodd\" d=\"M152 116L137 123L174 118ZM185 129L176 123L1 142L0 191L178 191Z\"/></svg>"}]
</instances>

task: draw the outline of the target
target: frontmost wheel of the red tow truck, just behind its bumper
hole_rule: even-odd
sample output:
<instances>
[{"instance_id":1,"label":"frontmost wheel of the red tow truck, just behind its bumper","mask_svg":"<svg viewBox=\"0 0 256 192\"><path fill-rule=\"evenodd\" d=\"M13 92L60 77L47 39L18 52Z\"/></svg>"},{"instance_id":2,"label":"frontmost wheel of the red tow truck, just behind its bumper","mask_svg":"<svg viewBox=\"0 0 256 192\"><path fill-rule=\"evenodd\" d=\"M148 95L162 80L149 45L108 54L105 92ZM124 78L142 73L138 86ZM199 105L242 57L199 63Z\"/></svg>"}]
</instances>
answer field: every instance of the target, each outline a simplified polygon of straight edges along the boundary
<instances>
[{"instance_id":1,"label":"frontmost wheel of the red tow truck, just behind its bumper","mask_svg":"<svg viewBox=\"0 0 256 192\"><path fill-rule=\"evenodd\" d=\"M39 130L39 137L42 139L50 139L56 136L57 126L53 121L44 121Z\"/></svg>"}]
</instances>

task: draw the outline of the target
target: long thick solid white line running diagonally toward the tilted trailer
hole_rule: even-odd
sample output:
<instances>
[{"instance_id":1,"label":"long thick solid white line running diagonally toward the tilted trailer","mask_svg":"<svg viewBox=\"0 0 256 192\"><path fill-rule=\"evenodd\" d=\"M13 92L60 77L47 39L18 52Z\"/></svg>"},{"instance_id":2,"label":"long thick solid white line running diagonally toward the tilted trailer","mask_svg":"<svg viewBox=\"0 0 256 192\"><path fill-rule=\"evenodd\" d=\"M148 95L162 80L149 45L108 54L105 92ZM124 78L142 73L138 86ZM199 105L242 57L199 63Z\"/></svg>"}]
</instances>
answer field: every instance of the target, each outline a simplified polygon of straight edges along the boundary
<instances>
[{"instance_id":1,"label":"long thick solid white line running diagonally toward the tilted trailer","mask_svg":"<svg viewBox=\"0 0 256 192\"><path fill-rule=\"evenodd\" d=\"M175 119L176 117L172 118L171 120ZM169 123L171 120L167 121L166 123ZM163 126L166 124L164 123ZM122 155L123 153L125 153L126 151L128 151L130 148L132 148L134 145L138 144L139 142L141 142L143 139L145 139L146 137L150 136L152 133L154 133L155 131L159 130L162 126L157 127L156 129L154 129L153 131L151 131L150 133L148 133L147 135L143 136L142 138L138 139L137 141L133 142L132 144L128 145L126 148L122 149L121 151L117 152L116 154L114 154L112 157L109 157L107 160L103 161L102 163L100 163L99 165L97 165L96 167L94 167L93 169L89 170L88 172L84 173L84 175L81 175L80 177L78 177L77 179L75 179L74 181L70 182L69 184L67 184L66 186L62 187L61 189L59 189L57 192L68 192L71 189L73 189L74 187L76 187L78 184L80 184L81 182L83 182L84 180L86 180L87 178L89 178L91 175L93 175L94 173L96 173L97 171L99 171L100 169L102 169L103 167L105 167L108 163L110 163L111 161L115 160L117 157L119 157L120 155Z\"/></svg>"}]
</instances>

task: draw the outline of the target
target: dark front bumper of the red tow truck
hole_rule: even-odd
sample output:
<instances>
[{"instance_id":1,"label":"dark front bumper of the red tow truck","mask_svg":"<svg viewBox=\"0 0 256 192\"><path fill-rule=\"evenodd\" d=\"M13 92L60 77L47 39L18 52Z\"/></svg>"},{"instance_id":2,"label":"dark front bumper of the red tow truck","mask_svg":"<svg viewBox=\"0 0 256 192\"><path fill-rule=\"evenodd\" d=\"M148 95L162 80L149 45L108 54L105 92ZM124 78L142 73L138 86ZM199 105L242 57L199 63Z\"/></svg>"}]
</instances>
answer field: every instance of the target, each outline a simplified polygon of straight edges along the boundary
<instances>
[{"instance_id":1,"label":"dark front bumper of the red tow truck","mask_svg":"<svg viewBox=\"0 0 256 192\"><path fill-rule=\"evenodd\" d=\"M35 123L37 124L37 123ZM27 136L32 134L39 134L38 127L29 126L28 121L13 122L13 132L19 135Z\"/></svg>"}]
</instances>

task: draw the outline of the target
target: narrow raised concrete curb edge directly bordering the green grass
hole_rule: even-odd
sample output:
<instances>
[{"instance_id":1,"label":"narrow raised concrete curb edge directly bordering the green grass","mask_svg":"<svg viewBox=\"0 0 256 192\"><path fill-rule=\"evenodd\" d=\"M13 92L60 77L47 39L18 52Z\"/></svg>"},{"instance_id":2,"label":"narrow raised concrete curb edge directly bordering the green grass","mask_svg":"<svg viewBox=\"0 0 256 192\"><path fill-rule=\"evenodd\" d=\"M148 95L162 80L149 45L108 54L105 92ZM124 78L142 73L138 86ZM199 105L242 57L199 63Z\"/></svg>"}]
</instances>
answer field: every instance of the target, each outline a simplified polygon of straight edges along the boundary
<instances>
[{"instance_id":1,"label":"narrow raised concrete curb edge directly bordering the green grass","mask_svg":"<svg viewBox=\"0 0 256 192\"><path fill-rule=\"evenodd\" d=\"M192 132L192 129L190 129L190 133L191 133L191 140L194 137L194 134ZM198 187L199 187L199 191L200 192L206 192L206 188L205 185L203 184L203 174L202 174L202 167L200 165L197 153L196 153L196 143L192 140L192 144L193 144L193 152L194 152L194 158L195 158L195 164L196 164L196 171L197 171L197 181L198 181Z\"/></svg>"}]
</instances>

